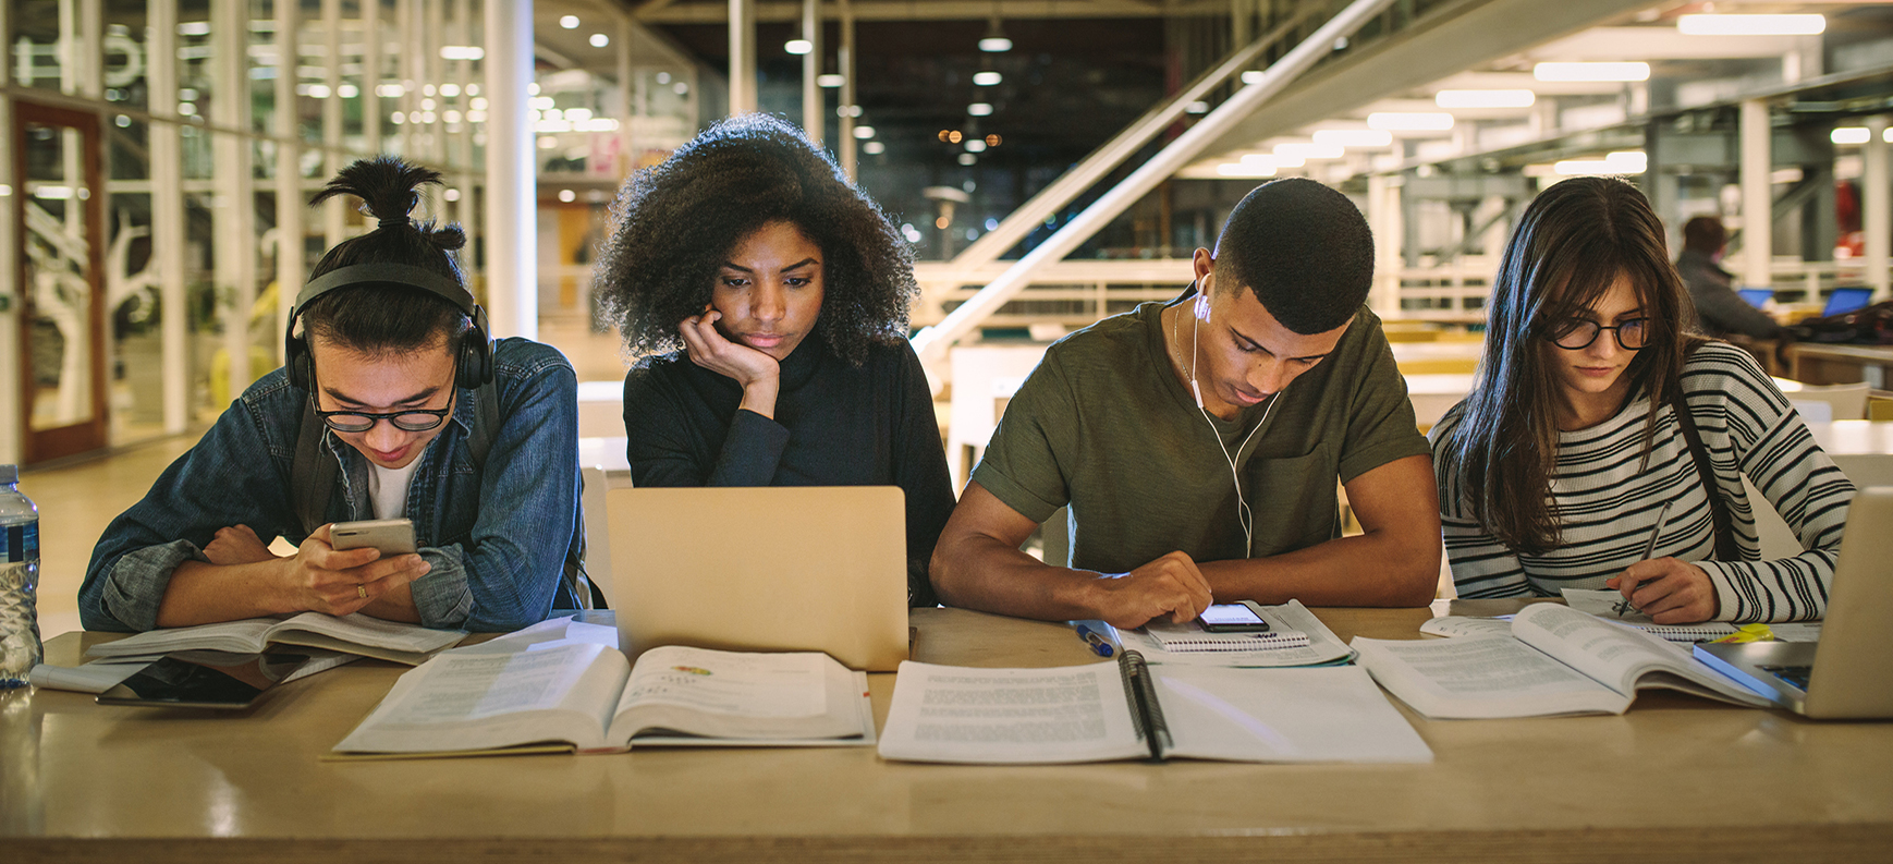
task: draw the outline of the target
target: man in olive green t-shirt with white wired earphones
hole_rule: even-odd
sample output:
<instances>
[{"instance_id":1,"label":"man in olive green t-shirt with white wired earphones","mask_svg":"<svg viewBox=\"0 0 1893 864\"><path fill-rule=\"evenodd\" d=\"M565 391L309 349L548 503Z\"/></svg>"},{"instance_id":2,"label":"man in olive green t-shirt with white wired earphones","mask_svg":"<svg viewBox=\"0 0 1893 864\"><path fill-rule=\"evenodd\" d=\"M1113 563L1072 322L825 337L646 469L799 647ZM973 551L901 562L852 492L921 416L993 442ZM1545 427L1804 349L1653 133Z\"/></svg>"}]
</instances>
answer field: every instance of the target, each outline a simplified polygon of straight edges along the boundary
<instances>
[{"instance_id":1,"label":"man in olive green t-shirt with white wired earphones","mask_svg":"<svg viewBox=\"0 0 1893 864\"><path fill-rule=\"evenodd\" d=\"M1212 599L1433 599L1433 466L1363 305L1367 220L1314 180L1276 180L1193 267L1176 301L1047 349L933 551L943 603L1136 627ZM1336 477L1361 536L1340 536ZM1018 551L1060 506L1070 567Z\"/></svg>"}]
</instances>

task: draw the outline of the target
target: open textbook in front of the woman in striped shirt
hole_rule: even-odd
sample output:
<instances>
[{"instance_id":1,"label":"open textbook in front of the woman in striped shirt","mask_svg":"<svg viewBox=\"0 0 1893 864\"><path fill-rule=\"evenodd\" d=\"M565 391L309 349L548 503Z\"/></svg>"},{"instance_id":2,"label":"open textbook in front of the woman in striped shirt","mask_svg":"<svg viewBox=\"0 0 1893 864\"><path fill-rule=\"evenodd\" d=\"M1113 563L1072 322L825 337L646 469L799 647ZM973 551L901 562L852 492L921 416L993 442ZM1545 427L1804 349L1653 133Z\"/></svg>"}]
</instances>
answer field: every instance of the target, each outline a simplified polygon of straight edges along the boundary
<instances>
[{"instance_id":1,"label":"open textbook in front of the woman in striped shirt","mask_svg":"<svg viewBox=\"0 0 1893 864\"><path fill-rule=\"evenodd\" d=\"M1641 688L1770 705L1685 648L1552 603L1518 612L1511 635L1355 639L1353 648L1380 686L1442 720L1622 714Z\"/></svg>"}]
</instances>

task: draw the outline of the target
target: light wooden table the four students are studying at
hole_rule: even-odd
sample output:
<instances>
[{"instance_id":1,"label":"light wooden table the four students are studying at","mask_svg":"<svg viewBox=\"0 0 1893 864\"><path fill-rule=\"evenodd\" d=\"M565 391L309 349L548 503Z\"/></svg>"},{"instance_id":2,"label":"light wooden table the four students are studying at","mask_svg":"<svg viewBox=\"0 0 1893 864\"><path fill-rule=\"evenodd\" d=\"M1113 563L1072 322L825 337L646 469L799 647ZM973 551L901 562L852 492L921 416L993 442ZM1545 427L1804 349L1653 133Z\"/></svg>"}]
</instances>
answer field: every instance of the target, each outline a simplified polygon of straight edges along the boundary
<instances>
[{"instance_id":1,"label":"light wooden table the four students are studying at","mask_svg":"<svg viewBox=\"0 0 1893 864\"><path fill-rule=\"evenodd\" d=\"M1460 612L1516 604L1460 603ZM1344 639L1414 610L1321 610ZM920 610L920 659L1066 665L1071 631ZM64 635L74 663L98 635ZM1887 860L1893 724L1645 693L1624 716L1425 722L1431 765L888 764L873 748L320 762L399 667L235 716L0 695L9 862ZM886 718L892 675L871 682ZM1405 711L1405 709L1403 709Z\"/></svg>"}]
</instances>

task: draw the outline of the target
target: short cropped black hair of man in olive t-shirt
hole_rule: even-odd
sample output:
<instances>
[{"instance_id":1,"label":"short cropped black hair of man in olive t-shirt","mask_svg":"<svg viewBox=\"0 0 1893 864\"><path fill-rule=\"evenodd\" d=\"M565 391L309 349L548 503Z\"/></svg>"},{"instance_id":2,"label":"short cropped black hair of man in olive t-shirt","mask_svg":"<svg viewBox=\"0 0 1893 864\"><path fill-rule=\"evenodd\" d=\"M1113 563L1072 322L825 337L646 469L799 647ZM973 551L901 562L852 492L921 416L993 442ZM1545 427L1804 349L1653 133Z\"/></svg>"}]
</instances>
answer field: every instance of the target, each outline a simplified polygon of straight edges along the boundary
<instances>
[{"instance_id":1,"label":"short cropped black hair of man in olive t-shirt","mask_svg":"<svg viewBox=\"0 0 1893 864\"><path fill-rule=\"evenodd\" d=\"M1374 282L1374 235L1346 195L1306 178L1247 193L1215 241L1219 286L1247 286L1282 326L1325 333L1348 324Z\"/></svg>"}]
</instances>

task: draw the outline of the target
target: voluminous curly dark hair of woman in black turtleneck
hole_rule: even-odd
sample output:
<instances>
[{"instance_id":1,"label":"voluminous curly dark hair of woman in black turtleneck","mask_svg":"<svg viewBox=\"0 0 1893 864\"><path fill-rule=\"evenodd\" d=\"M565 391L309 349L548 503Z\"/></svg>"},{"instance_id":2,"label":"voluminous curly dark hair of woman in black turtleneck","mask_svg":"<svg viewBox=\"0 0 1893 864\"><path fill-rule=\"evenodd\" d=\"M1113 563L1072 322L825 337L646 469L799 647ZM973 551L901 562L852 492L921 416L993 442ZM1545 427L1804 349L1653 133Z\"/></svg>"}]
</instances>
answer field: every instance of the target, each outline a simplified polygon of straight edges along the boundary
<instances>
[{"instance_id":1,"label":"voluminous curly dark hair of woman in black turtleneck","mask_svg":"<svg viewBox=\"0 0 1893 864\"><path fill-rule=\"evenodd\" d=\"M744 237L789 222L822 248L814 333L852 366L907 337L920 294L912 250L880 207L848 186L803 133L767 114L729 117L632 174L611 207L593 292L632 356L683 349L678 322L710 303L717 267Z\"/></svg>"}]
</instances>

